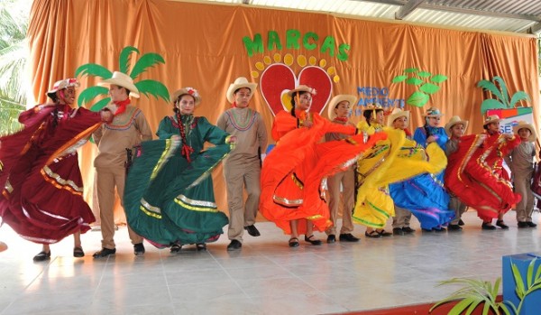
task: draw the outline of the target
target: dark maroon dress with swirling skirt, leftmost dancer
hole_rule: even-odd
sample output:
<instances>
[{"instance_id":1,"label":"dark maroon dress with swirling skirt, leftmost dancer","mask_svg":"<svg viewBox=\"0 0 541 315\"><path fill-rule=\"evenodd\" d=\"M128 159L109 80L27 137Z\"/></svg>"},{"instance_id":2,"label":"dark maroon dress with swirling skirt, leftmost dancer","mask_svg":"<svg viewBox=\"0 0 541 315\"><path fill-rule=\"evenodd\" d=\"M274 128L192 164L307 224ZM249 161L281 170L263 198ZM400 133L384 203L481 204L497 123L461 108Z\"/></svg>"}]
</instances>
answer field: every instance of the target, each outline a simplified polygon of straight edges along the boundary
<instances>
[{"instance_id":1,"label":"dark maroon dress with swirling skirt, leftmost dancer","mask_svg":"<svg viewBox=\"0 0 541 315\"><path fill-rule=\"evenodd\" d=\"M64 105L33 107L24 129L0 138L0 216L35 243L60 241L95 221L82 197L77 148L101 125L99 113Z\"/></svg>"}]
</instances>

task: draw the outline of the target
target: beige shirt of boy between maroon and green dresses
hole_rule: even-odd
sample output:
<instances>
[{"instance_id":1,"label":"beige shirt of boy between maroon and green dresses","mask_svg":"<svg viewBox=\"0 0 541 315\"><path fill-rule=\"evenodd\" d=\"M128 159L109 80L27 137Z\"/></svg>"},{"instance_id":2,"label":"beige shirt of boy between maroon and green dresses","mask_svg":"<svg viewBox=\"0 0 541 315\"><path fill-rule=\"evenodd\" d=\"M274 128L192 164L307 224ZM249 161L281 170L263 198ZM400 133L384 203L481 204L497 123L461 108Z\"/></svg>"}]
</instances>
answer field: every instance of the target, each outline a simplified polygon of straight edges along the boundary
<instances>
[{"instance_id":1,"label":"beige shirt of boy between maroon and green dresses","mask_svg":"<svg viewBox=\"0 0 541 315\"><path fill-rule=\"evenodd\" d=\"M124 167L126 148L152 140L152 132L141 109L128 105L113 122L97 128L93 137L98 151L95 167Z\"/></svg>"}]
</instances>

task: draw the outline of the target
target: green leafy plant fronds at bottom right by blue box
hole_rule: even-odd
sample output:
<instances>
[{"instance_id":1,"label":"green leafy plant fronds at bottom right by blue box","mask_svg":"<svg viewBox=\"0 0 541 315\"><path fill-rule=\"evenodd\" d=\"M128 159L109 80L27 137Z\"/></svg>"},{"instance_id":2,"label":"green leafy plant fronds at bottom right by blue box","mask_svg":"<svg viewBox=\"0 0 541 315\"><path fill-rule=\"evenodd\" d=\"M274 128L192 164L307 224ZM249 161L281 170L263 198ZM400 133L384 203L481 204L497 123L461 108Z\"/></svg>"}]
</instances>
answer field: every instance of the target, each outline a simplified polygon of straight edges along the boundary
<instances>
[{"instance_id":1,"label":"green leafy plant fronds at bottom right by blue box","mask_svg":"<svg viewBox=\"0 0 541 315\"><path fill-rule=\"evenodd\" d=\"M510 301L496 301L498 292L500 291L501 278L498 278L494 285L481 280L454 278L444 281L439 285L461 284L463 287L453 292L444 300L437 301L429 311L432 312L432 310L435 310L446 303L458 301L453 309L449 311L449 315L472 314L472 311L480 305L482 305L481 314L483 315L518 315L520 314L520 310L522 309L523 302L527 295L541 289L541 266L534 271L536 261L537 258L533 259L530 264L528 264L525 279L526 282L522 279L522 275L518 271L517 265L511 262L513 278L515 279L515 283L517 283L515 292L520 301L518 307Z\"/></svg>"}]
</instances>

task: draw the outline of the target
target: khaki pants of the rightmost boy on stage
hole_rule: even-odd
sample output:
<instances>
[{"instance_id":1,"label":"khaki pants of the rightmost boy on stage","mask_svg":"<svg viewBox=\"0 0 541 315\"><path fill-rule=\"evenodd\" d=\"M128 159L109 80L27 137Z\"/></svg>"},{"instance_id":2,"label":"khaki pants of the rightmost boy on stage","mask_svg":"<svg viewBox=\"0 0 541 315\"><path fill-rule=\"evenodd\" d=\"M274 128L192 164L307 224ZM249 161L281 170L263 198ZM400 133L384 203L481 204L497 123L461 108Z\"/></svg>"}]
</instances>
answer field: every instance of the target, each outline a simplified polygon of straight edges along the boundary
<instances>
[{"instance_id":1,"label":"khaki pants of the rightmost boy on stage","mask_svg":"<svg viewBox=\"0 0 541 315\"><path fill-rule=\"evenodd\" d=\"M517 207L517 221L518 222L531 222L532 221L532 212L534 211L534 194L530 189L532 176L534 170L524 171L519 170L513 173L513 185L515 187L515 192L519 193L522 196L520 202L518 202Z\"/></svg>"}]
</instances>

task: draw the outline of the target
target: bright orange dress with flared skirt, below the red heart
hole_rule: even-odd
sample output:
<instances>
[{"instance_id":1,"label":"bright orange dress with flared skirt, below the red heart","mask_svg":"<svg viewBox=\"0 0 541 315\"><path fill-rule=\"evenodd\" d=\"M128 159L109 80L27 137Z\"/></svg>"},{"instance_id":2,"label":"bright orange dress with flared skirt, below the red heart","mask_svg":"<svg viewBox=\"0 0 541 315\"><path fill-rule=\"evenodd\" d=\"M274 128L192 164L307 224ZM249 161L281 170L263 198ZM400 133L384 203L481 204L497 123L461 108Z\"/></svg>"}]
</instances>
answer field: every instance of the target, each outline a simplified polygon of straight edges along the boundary
<instances>
[{"instance_id":1,"label":"bright orange dress with flared skirt, below the red heart","mask_svg":"<svg viewBox=\"0 0 541 315\"><path fill-rule=\"evenodd\" d=\"M289 221L293 219L300 219L299 234L306 234L303 219L311 220L319 231L330 227L329 209L321 197L323 179L343 171L356 162L362 152L386 136L374 136L364 144L362 134L353 135L355 127L332 124L317 114L310 115L313 115L310 128L299 128L299 120L289 112L276 115L272 137L277 144L261 168L260 212L286 234L291 234ZM300 120L304 118L301 116ZM322 143L326 133L353 136Z\"/></svg>"}]
</instances>

